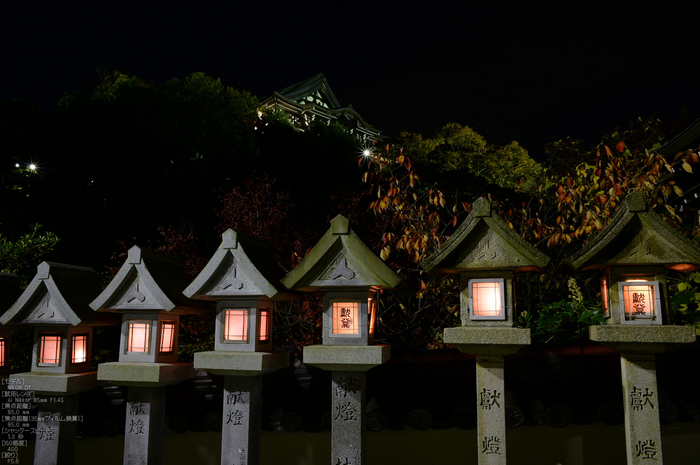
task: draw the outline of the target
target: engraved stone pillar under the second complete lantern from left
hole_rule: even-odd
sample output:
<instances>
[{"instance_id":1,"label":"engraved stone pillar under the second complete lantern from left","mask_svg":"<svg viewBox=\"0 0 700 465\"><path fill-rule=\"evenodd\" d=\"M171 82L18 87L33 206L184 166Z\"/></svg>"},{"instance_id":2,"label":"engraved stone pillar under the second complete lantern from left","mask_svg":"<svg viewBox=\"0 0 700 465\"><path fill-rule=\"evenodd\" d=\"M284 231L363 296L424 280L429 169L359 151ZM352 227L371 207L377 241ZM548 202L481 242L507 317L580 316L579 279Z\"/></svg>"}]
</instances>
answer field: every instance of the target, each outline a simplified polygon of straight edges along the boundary
<instances>
[{"instance_id":1,"label":"engraved stone pillar under the second complete lantern from left","mask_svg":"<svg viewBox=\"0 0 700 465\"><path fill-rule=\"evenodd\" d=\"M162 465L165 387L131 386L127 392L124 465Z\"/></svg>"}]
</instances>

